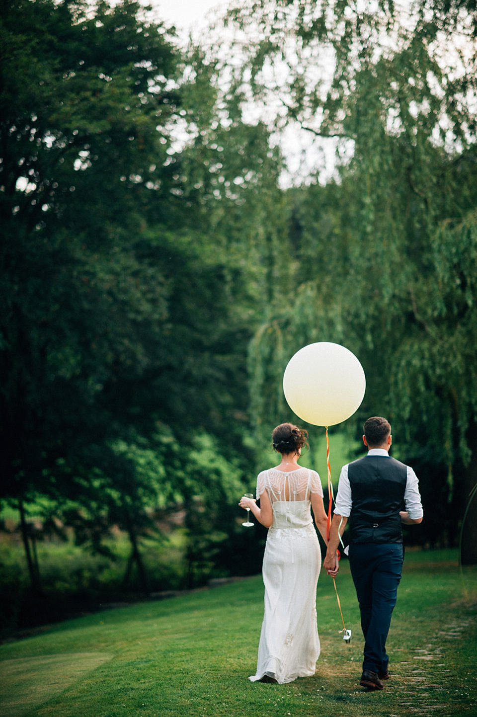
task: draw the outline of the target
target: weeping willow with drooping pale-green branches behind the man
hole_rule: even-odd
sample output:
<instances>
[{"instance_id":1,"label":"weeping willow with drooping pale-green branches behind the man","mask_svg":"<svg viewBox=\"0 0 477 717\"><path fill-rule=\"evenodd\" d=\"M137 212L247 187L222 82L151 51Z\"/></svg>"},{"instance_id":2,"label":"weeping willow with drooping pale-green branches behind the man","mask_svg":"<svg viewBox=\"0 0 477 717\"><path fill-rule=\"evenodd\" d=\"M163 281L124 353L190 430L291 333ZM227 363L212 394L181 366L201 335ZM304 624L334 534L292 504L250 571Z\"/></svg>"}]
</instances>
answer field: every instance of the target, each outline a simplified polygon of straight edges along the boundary
<instances>
[{"instance_id":1,"label":"weeping willow with drooping pale-green branches behind the man","mask_svg":"<svg viewBox=\"0 0 477 717\"><path fill-rule=\"evenodd\" d=\"M336 146L327 186L294 193L296 286L252 344L257 411L280 406L296 348L344 343L363 412L389 415L455 541L477 465L475 4L260 0L228 17L231 87ZM476 500L464 527L476 561Z\"/></svg>"}]
</instances>

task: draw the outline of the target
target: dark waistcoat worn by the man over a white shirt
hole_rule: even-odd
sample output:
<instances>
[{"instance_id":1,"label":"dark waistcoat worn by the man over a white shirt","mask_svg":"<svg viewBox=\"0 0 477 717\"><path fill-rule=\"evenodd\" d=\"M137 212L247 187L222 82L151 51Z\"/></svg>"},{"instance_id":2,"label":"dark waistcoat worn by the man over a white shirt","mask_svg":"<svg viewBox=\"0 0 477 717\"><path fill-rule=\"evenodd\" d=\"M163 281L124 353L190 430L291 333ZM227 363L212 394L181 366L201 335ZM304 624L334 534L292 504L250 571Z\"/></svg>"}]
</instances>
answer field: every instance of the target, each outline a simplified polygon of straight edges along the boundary
<instances>
[{"instance_id":1,"label":"dark waistcoat worn by the man over a white shirt","mask_svg":"<svg viewBox=\"0 0 477 717\"><path fill-rule=\"evenodd\" d=\"M367 455L348 466L351 485L350 543L402 543L407 466L395 458Z\"/></svg>"}]
</instances>

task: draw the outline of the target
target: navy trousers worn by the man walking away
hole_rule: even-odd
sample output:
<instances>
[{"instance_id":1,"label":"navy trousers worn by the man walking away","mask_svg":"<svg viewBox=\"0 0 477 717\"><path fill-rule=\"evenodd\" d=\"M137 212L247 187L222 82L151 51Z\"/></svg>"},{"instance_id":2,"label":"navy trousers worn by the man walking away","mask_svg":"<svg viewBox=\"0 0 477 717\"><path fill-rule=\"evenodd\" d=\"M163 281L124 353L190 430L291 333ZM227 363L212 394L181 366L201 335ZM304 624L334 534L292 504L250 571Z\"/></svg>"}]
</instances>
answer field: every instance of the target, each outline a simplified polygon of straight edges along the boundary
<instances>
[{"instance_id":1,"label":"navy trousers worn by the man walking away","mask_svg":"<svg viewBox=\"0 0 477 717\"><path fill-rule=\"evenodd\" d=\"M361 612L363 670L387 673L386 638L402 573L402 543L354 543L349 566Z\"/></svg>"}]
</instances>

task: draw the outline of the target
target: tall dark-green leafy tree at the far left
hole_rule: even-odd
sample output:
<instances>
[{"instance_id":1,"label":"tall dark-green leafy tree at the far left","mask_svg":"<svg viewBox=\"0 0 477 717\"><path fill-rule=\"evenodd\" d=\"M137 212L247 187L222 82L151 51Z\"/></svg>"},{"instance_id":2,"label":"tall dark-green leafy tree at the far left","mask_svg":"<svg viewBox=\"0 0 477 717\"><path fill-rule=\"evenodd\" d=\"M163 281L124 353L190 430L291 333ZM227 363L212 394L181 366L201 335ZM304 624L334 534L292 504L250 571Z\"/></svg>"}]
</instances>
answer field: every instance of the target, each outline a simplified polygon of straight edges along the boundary
<instances>
[{"instance_id":1,"label":"tall dark-green leafy tree at the far left","mask_svg":"<svg viewBox=\"0 0 477 717\"><path fill-rule=\"evenodd\" d=\"M4 495L24 515L37 490L57 490L59 460L110 436L103 385L144 363L144 321L165 313L164 278L131 234L135 194L167 156L156 126L174 113L176 57L133 3L93 16L48 0L5 9L1 435Z\"/></svg>"}]
</instances>

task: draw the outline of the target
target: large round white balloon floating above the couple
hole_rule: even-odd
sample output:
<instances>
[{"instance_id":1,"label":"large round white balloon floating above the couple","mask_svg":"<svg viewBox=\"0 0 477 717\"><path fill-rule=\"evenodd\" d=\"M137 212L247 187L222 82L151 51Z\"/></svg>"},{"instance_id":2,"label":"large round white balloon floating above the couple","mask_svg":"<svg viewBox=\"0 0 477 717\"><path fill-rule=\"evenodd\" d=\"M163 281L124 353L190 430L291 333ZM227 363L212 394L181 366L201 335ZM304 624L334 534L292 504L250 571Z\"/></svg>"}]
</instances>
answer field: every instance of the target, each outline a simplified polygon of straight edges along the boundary
<instances>
[{"instance_id":1,"label":"large round white balloon floating above the couple","mask_svg":"<svg viewBox=\"0 0 477 717\"><path fill-rule=\"evenodd\" d=\"M339 343L320 341L303 346L288 361L283 392L303 421L333 426L359 408L366 389L362 365Z\"/></svg>"}]
</instances>

